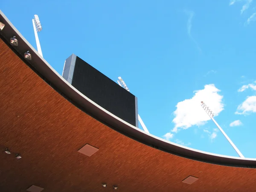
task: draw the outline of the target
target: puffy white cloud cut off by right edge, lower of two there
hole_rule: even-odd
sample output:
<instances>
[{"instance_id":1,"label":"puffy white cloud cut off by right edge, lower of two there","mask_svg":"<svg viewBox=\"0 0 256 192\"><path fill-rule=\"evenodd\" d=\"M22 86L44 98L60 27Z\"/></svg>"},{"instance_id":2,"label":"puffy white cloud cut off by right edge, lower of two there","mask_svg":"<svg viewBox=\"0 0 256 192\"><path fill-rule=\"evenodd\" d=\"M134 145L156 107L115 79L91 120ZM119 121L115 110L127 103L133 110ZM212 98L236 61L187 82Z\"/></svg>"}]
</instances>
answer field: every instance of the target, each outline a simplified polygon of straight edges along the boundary
<instances>
[{"instance_id":1,"label":"puffy white cloud cut off by right edge, lower of two there","mask_svg":"<svg viewBox=\"0 0 256 192\"><path fill-rule=\"evenodd\" d=\"M236 110L236 114L239 115L246 115L249 113L256 113L256 96L248 96Z\"/></svg>"}]
</instances>

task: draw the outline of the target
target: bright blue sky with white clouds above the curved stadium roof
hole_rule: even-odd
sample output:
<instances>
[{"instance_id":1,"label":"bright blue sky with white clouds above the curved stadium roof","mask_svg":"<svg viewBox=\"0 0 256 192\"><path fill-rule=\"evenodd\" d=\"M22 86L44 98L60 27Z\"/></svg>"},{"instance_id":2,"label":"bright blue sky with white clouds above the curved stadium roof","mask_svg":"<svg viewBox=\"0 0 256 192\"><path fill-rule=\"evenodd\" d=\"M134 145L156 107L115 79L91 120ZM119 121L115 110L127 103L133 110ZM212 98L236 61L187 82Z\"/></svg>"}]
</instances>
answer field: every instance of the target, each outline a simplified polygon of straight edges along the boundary
<instances>
[{"instance_id":1,"label":"bright blue sky with white clouds above the curved stadium roof","mask_svg":"<svg viewBox=\"0 0 256 192\"><path fill-rule=\"evenodd\" d=\"M39 16L44 58L58 73L74 53L121 76L151 134L238 156L204 100L241 153L256 158L256 0L13 0L1 10L34 47Z\"/></svg>"}]
</instances>

